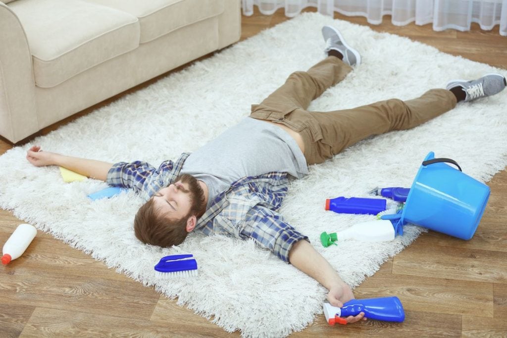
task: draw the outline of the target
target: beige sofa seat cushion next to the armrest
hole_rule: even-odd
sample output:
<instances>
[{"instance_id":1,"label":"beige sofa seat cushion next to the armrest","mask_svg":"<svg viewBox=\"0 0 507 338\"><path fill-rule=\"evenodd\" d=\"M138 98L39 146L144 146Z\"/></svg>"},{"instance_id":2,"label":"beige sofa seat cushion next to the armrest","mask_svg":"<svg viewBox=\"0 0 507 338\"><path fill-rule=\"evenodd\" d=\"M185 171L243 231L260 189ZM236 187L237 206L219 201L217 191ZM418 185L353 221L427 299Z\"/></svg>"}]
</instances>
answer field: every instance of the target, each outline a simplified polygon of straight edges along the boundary
<instances>
[{"instance_id":1,"label":"beige sofa seat cushion next to the armrest","mask_svg":"<svg viewBox=\"0 0 507 338\"><path fill-rule=\"evenodd\" d=\"M80 0L17 0L9 5L26 32L35 84L54 87L139 46L139 21Z\"/></svg>"}]
</instances>

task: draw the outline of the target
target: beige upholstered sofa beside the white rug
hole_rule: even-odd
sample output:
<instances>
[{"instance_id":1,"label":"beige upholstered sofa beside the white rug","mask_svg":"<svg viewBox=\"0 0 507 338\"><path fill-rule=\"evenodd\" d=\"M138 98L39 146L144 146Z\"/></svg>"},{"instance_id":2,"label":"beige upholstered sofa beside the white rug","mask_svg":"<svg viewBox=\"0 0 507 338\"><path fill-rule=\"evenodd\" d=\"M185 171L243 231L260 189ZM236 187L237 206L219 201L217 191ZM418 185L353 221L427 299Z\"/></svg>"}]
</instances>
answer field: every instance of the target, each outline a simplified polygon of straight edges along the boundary
<instances>
[{"instance_id":1,"label":"beige upholstered sofa beside the white rug","mask_svg":"<svg viewBox=\"0 0 507 338\"><path fill-rule=\"evenodd\" d=\"M240 0L0 0L11 142L239 40Z\"/></svg>"}]
</instances>

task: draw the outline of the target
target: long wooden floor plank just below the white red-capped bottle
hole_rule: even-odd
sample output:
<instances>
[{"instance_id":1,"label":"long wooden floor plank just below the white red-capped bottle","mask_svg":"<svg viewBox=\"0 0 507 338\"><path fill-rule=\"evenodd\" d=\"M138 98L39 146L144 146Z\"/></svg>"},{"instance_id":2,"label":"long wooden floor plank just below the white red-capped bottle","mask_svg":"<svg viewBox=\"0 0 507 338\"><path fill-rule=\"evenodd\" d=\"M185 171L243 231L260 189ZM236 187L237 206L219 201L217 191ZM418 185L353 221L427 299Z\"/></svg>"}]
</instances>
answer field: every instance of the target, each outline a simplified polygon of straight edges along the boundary
<instances>
[{"instance_id":1,"label":"long wooden floor plank just below the white red-capped bottle","mask_svg":"<svg viewBox=\"0 0 507 338\"><path fill-rule=\"evenodd\" d=\"M87 269L88 274L94 269ZM37 273L34 273L37 272ZM126 278L124 278L125 280ZM3 305L78 311L148 320L159 294L140 283L8 266L0 274ZM128 305L128 311L124 306Z\"/></svg>"}]
</instances>

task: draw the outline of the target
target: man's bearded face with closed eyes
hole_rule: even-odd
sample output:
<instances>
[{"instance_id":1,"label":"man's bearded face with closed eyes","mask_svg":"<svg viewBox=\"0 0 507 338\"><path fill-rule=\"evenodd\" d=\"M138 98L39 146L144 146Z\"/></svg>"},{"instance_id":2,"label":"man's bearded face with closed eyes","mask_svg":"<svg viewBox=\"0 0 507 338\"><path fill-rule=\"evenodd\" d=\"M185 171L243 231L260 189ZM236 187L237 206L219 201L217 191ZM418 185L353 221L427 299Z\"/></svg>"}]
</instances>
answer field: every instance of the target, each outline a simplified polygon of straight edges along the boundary
<instances>
[{"instance_id":1,"label":"man's bearded face with closed eyes","mask_svg":"<svg viewBox=\"0 0 507 338\"><path fill-rule=\"evenodd\" d=\"M202 195L203 192L197 179L190 175L183 175L175 183L159 190L152 198L160 214L174 219L182 219L190 216L190 211L198 213L202 208L205 208L205 206L199 205L200 198L196 198Z\"/></svg>"}]
</instances>

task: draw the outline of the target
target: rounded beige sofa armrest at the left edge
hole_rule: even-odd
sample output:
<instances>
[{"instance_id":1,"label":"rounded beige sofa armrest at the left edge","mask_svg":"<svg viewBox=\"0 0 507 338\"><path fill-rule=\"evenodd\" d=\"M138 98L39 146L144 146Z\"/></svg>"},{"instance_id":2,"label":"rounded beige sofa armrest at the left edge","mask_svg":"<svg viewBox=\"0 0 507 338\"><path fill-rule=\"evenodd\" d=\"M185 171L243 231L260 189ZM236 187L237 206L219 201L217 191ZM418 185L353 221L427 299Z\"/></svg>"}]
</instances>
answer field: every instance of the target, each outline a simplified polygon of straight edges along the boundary
<instances>
[{"instance_id":1,"label":"rounded beige sofa armrest at the left edge","mask_svg":"<svg viewBox=\"0 0 507 338\"><path fill-rule=\"evenodd\" d=\"M39 131L30 48L18 17L0 3L0 135L17 142Z\"/></svg>"}]
</instances>

